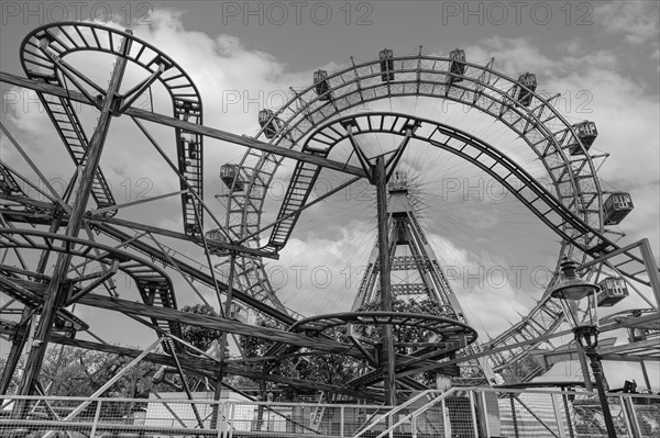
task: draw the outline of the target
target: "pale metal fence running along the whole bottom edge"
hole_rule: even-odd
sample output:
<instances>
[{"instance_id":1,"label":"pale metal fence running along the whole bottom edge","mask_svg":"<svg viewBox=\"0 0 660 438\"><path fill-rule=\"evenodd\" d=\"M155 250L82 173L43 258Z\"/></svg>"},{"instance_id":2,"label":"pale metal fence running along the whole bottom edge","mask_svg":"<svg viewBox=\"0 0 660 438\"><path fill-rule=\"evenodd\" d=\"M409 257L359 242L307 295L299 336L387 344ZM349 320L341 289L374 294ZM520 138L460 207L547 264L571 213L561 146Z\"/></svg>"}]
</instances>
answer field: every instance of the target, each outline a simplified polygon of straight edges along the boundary
<instances>
[{"instance_id":1,"label":"pale metal fence running along the whole bottom edge","mask_svg":"<svg viewBox=\"0 0 660 438\"><path fill-rule=\"evenodd\" d=\"M608 397L618 437L660 436L660 397ZM0 437L607 437L597 394L453 389L383 406L3 396Z\"/></svg>"}]
</instances>

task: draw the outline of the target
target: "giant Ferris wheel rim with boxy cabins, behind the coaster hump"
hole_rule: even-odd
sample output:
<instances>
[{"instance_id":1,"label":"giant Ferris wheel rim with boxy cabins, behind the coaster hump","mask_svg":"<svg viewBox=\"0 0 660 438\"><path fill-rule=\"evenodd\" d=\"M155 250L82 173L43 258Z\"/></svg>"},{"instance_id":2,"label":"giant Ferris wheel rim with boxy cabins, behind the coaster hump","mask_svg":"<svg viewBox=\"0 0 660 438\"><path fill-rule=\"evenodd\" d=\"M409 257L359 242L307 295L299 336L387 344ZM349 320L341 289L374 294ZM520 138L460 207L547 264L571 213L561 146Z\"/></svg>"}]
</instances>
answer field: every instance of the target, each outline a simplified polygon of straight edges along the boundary
<instances>
[{"instance_id":1,"label":"giant Ferris wheel rim with boxy cabins, behind the coaster hump","mask_svg":"<svg viewBox=\"0 0 660 438\"><path fill-rule=\"evenodd\" d=\"M452 50L449 56L425 55L421 49L416 55L394 56L384 49L377 59L356 63L351 58L350 66L339 71L316 71L308 87L292 89L293 97L282 108L263 109L256 138L283 148L329 156L346 138L378 133L404 136L406 128L414 126L414 138L455 154L490 173L559 235L558 263L564 257L585 263L617 250L616 242L623 233L616 225L631 211L632 202L628 193L603 189L597 169L607 154L592 148L598 135L595 123L569 122L559 109L561 94L537 90L535 74L510 77L494 66L494 59L485 65L469 61L462 49ZM504 125L542 165L550 184L542 184L526 171L525 162L502 154L487 138L473 137L414 112L386 113L369 108L370 103L406 97L459 102ZM351 113L356 115L346 115ZM282 160L252 149L239 164L227 164L220 171L229 191L227 228L238 238L270 251L286 245L300 212L309 205L321 171L319 166L297 164L278 214L266 225L262 218L265 193ZM522 183L516 187L512 180ZM608 279L618 288L624 284L623 278L650 285L639 255L626 254L625 260L607 266L615 276ZM243 269L237 280L243 287L256 288L258 293L272 290L267 281L255 284L250 280L267 279L262 263L251 259ZM600 269L597 278L602 278ZM594 266L585 273L594 274ZM557 280L556 270L543 297L530 313L482 346L497 349L490 358L495 369L502 370L512 359L519 359L527 348L540 344L530 342L532 339L551 335L561 325L561 306L548 293ZM613 305L625 296L617 294L617 287L608 284L603 283L602 305ZM520 341L526 347L510 347Z\"/></svg>"}]
</instances>

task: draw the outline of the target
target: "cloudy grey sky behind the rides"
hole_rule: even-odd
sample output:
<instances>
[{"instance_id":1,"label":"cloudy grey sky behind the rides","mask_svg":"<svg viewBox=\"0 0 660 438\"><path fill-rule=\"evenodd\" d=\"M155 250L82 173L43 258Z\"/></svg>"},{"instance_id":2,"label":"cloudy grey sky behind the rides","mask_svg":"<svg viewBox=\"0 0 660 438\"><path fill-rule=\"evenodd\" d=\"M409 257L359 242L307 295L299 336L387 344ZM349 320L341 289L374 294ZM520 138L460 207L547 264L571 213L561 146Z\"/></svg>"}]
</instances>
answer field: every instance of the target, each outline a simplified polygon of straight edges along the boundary
<instances>
[{"instance_id":1,"label":"cloudy grey sky behind the rides","mask_svg":"<svg viewBox=\"0 0 660 438\"><path fill-rule=\"evenodd\" d=\"M620 244L648 238L660 255L659 8L656 1L612 2L2 2L0 69L23 75L22 38L38 25L68 19L94 21L134 34L163 49L193 78L204 99L205 124L235 134L255 135L262 108L276 110L290 88L311 82L315 70L338 70L374 59L385 47L395 55L447 55L461 47L468 60L507 75L532 71L539 90L561 93L558 105L571 123L596 122L592 150L608 154L598 162L605 190L631 193L635 210L622 223ZM420 48L421 46L421 48ZM72 63L99 83L112 59L74 55ZM138 69L129 79L141 78ZM129 80L130 82L130 80ZM43 109L26 90L2 87L2 123L44 173L61 187L74 171ZM154 87L154 109L169 113L163 89ZM136 105L146 108L147 101ZM539 179L538 159L504 125L455 103L430 99L392 99L371 110L402 111L470 132L516 156ZM77 108L94 128L96 114ZM148 126L174 156L172 132ZM18 151L0 137L2 160L29 176ZM380 139L374 147L386 148ZM224 217L226 188L220 166L238 162L242 147L205 143L205 200ZM130 121L114 119L101 167L119 202L170 193L178 183L162 158ZM264 223L275 217L294 165L285 160L268 190ZM415 180L420 222L452 288L482 338L495 337L519 321L539 300L554 269L559 236L543 226L487 175L455 157L413 144L402 168ZM315 195L348 177L322 173ZM220 194L218 199L213 194ZM375 198L362 182L306 211L279 260L266 271L288 307L316 315L350 308L356 284L375 242ZM165 199L127 209L120 217L182 229L178 202ZM207 228L210 220L207 217ZM191 259L199 249L172 242ZM458 273L457 273L458 272ZM516 272L521 276L516 277ZM455 274L454 274L455 273ZM172 273L179 306L199 299ZM130 288L127 288L130 289ZM200 288L208 300L213 292ZM648 296L648 291L644 291ZM134 293L134 291L132 292ZM127 299L136 299L127 290ZM645 306L635 293L606 312ZM109 341L146 346L153 337L132 322L94 308L76 310L95 321ZM118 325L119 324L119 325ZM129 335L130 334L130 335ZM569 339L562 339L568 341ZM625 339L624 339L625 340ZM620 340L620 341L624 341ZM4 355L7 344L0 344ZM630 370L630 372L636 372ZM638 382L641 379L637 379Z\"/></svg>"}]
</instances>

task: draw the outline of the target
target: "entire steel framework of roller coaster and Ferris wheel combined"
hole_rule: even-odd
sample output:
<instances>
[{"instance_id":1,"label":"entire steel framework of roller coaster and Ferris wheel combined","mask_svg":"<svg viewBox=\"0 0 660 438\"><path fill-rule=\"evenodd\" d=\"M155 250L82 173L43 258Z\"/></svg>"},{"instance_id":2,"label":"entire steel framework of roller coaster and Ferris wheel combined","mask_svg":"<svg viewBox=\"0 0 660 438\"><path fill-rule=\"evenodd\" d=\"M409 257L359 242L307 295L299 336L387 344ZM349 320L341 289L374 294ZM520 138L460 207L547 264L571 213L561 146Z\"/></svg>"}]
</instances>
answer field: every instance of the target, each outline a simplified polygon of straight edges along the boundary
<instances>
[{"instance_id":1,"label":"entire steel framework of roller coaster and Ferris wheel combined","mask_svg":"<svg viewBox=\"0 0 660 438\"><path fill-rule=\"evenodd\" d=\"M108 87L100 87L69 64L67 57L80 52L116 58ZM553 106L559 94L541 97L534 74L512 78L496 71L493 59L485 66L468 61L461 49L447 57L425 55L421 48L418 55L397 57L385 49L372 61L355 64L351 59L351 65L340 71L315 72L314 83L293 91L293 98L283 108L261 111L257 121L261 130L249 137L204 125L201 97L188 74L130 31L89 23L50 24L25 37L21 60L26 77L1 72L0 80L37 93L79 177L76 188L72 184L65 193L56 192L2 125L9 142L45 187L40 189L8 162L0 162L0 276L1 292L7 300L0 307L0 333L11 341L0 381L2 394L10 390L23 395L35 392L50 344L139 358L146 355L146 360L175 367L184 381L184 371L221 380L213 371L220 363L229 374L389 405L400 401L399 386L420 389L420 383L410 377L425 371L457 375L457 364L474 363L483 369L490 383L494 373L506 377L508 367L564 333L560 332L564 321L562 307L550 294L560 281L560 273L554 269L548 291L518 324L488 341L476 342L476 332L444 278L409 203L405 173L396 168L411 141L453 154L508 189L561 238L558 260L564 257L575 260L581 276L600 282L602 306L614 305L630 290L647 302L648 308L627 310L602 321L602 330L627 328L631 334L626 345L598 351L604 359L644 363L660 358L660 277L649 243L645 239L622 247L617 244L620 233L612 227L632 209L630 196L602 189L596 169L606 154L591 149L597 136L595 124L588 121L570 124ZM144 72L143 80L129 90L121 88L127 65L140 66ZM132 106L156 82L169 93L173 115ZM450 125L396 112L345 115L346 110L369 102L407 96L451 100L492 116L525 142L544 167L552 189L493 145ZM74 103L98 110L94 133L84 130ZM135 202L117 204L99 166L114 117L131 119L144 134L145 143L177 175L180 190L169 195L180 198L183 229L164 229L116 217L121 209ZM173 128L175 159L167 156L144 122ZM369 156L360 138L375 134L391 135L399 143L387 154ZM220 168L220 178L229 192L224 222L205 203L205 137L248 148L240 162ZM330 157L332 148L341 142L348 142L352 148L355 158L351 162ZM266 190L285 158L296 162L286 194L276 220L262 224ZM366 178L375 187L378 239L351 311L304 318L282 304L268 281L263 259L278 257L305 209L341 190L343 186L310 201L311 190L323 170L352 176L346 184ZM524 184L516 187L514 180ZM23 189L26 184L48 201L28 195ZM88 210L90 196L96 202L92 210ZM213 222L212 229L205 228L205 220ZM205 233L205 229L210 231ZM102 235L105 243L95 235ZM163 238L195 244L208 266L200 267L186 259L164 245ZM408 248L405 256L397 250L400 246ZM10 265L13 259L15 263ZM46 273L53 261L54 271ZM223 271L228 273L216 268L219 263L229 267ZM419 272L419 282L392 283L391 272L410 268ZM141 303L117 296L113 277L118 272L134 281ZM177 311L173 272L180 274L191 290L194 281L211 288L221 316ZM440 312L395 312L393 302L397 299L427 300ZM139 321L160 339L167 339L163 342L164 352L78 339L77 333L90 330L90 325L67 310L75 303L111 310ZM373 303L380 307L373 310ZM234 304L286 328L237 321L231 315ZM365 305L372 307L365 311ZM273 353L286 349L301 356L310 351L350 356L365 364L365 372L342 386L255 373L240 362L222 363L204 351L201 356L190 355L184 348L182 324L275 341ZM328 329L337 326L348 328L350 341L329 336ZM380 327L381 338L369 341L361 338L360 326ZM408 326L422 327L430 340L418 342L404 355L395 350L393 327ZM24 357L23 368L19 367L21 357ZM522 381L541 371L534 370ZM18 390L10 388L16 375L21 378Z\"/></svg>"}]
</instances>

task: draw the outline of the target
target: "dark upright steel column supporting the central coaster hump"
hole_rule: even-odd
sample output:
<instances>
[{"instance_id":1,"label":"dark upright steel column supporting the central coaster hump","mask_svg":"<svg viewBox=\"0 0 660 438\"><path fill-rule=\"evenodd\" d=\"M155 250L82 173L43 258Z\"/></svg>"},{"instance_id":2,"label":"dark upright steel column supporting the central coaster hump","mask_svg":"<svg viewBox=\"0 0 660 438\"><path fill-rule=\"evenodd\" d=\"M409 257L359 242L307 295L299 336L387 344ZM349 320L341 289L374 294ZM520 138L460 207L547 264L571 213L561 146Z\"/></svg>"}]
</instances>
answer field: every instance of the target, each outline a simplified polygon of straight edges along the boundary
<instances>
[{"instance_id":1,"label":"dark upright steel column supporting the central coaster hump","mask_svg":"<svg viewBox=\"0 0 660 438\"><path fill-rule=\"evenodd\" d=\"M392 284L389 278L389 245L387 243L387 173L385 159L381 156L373 167L374 183L376 186L376 207L378 218L378 262L381 265L381 308L392 312ZM383 363L385 374L385 403L389 406L397 405L395 355L393 328L391 324L383 326Z\"/></svg>"}]
</instances>

